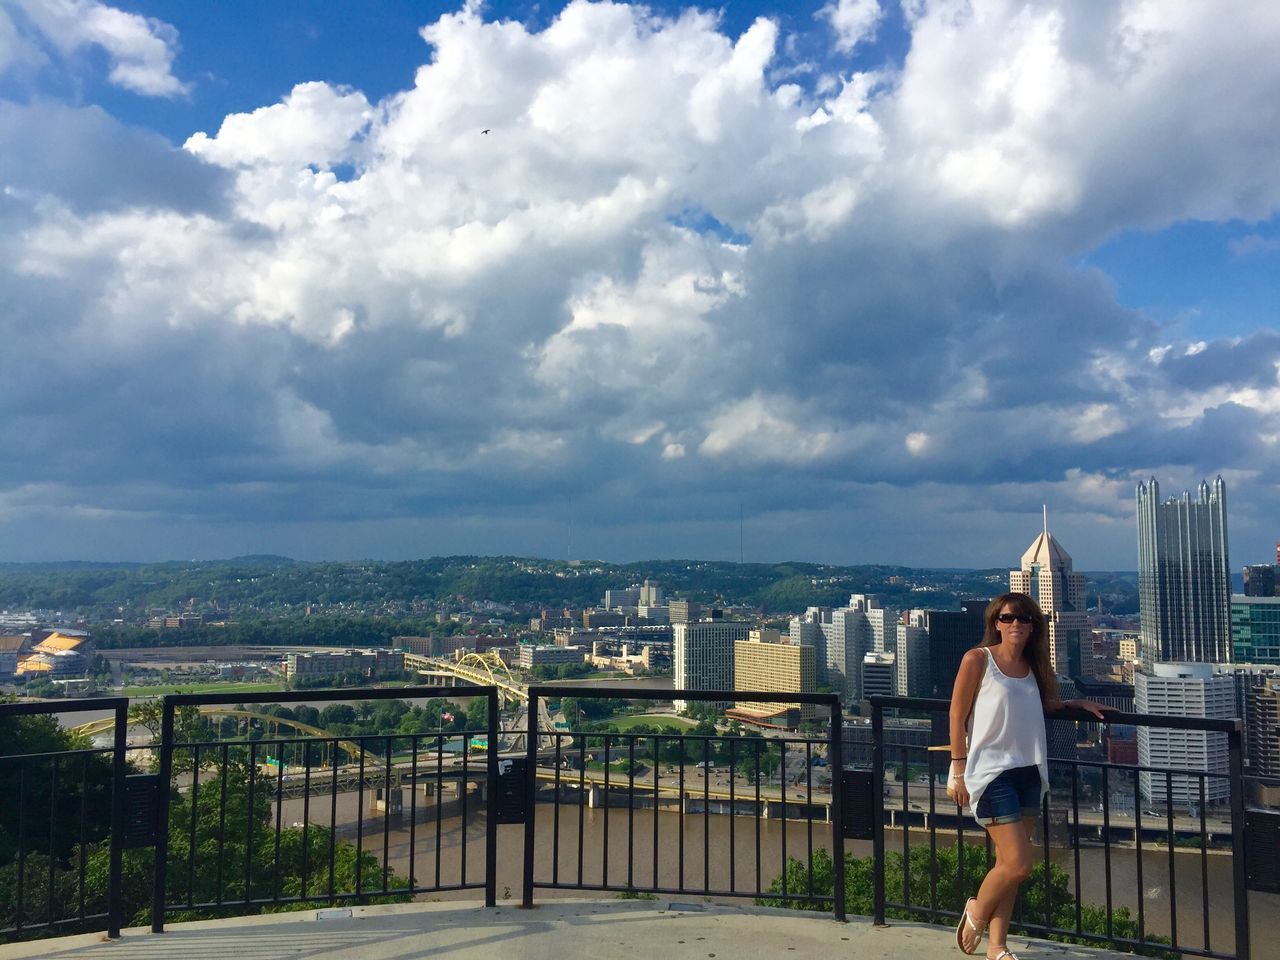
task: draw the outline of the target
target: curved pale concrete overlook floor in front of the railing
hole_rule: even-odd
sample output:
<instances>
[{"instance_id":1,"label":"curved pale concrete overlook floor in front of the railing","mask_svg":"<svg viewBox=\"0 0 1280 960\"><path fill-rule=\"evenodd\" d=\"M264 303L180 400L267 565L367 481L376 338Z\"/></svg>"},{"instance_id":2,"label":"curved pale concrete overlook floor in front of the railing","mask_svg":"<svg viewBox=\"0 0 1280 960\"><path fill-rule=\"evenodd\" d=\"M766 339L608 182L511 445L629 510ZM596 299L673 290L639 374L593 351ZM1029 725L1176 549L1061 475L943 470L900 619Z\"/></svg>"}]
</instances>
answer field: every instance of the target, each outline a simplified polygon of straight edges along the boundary
<instances>
[{"instance_id":1,"label":"curved pale concrete overlook floor in front of the railing","mask_svg":"<svg viewBox=\"0 0 1280 960\"><path fill-rule=\"evenodd\" d=\"M1120 960L1129 954L1011 938L1021 960ZM499 904L394 904L175 923L119 940L63 937L0 947L22 960L959 960L940 927L754 906L672 900L554 900L522 910Z\"/></svg>"}]
</instances>

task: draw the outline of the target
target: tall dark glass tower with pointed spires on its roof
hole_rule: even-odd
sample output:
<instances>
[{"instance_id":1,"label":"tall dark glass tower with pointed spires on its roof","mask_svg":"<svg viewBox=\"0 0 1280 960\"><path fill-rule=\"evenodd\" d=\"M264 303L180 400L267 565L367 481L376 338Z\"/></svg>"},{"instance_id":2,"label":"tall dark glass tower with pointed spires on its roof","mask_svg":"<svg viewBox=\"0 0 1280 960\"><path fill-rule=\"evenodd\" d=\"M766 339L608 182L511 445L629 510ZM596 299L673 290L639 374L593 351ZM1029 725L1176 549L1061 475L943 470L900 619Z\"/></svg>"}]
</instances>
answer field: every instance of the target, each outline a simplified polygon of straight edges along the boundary
<instances>
[{"instance_id":1,"label":"tall dark glass tower with pointed spires on its roof","mask_svg":"<svg viewBox=\"0 0 1280 960\"><path fill-rule=\"evenodd\" d=\"M1144 664L1231 662L1226 484L1201 481L1192 500L1138 484L1138 602Z\"/></svg>"}]
</instances>

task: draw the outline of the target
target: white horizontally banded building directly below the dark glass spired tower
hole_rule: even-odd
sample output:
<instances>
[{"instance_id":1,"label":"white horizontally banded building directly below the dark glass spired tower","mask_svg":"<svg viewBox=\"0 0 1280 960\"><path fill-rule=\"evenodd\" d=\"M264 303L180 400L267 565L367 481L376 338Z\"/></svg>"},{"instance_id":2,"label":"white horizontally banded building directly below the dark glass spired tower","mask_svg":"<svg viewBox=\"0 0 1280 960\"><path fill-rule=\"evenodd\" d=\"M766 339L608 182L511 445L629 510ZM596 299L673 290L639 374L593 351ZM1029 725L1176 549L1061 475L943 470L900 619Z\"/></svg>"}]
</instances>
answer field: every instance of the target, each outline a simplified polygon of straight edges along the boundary
<instances>
[{"instance_id":1,"label":"white horizontally banded building directly below the dark glass spired tower","mask_svg":"<svg viewBox=\"0 0 1280 960\"><path fill-rule=\"evenodd\" d=\"M1155 663L1134 675L1134 709L1167 717L1230 718L1236 714L1235 681L1229 675L1215 676L1207 663ZM1138 763L1225 774L1226 733L1138 727ZM1179 809L1199 804L1201 777L1175 773L1170 782L1162 773L1144 771L1138 774L1138 786L1149 804L1171 800ZM1204 778L1204 799L1211 805L1225 801L1230 788L1225 777Z\"/></svg>"}]
</instances>

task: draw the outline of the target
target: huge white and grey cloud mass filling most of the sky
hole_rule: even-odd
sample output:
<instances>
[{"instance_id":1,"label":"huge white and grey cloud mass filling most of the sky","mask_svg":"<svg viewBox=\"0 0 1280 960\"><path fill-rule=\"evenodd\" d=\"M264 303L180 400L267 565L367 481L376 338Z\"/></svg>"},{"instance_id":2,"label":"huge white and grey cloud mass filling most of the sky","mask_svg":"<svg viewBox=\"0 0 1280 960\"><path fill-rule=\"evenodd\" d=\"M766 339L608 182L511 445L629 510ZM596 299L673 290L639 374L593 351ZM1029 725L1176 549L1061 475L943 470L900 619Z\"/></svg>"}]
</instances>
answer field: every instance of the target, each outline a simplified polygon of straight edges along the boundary
<instances>
[{"instance_id":1,"label":"huge white and grey cloud mass filling most of the sky","mask_svg":"<svg viewBox=\"0 0 1280 960\"><path fill-rule=\"evenodd\" d=\"M850 47L873 6L827 8ZM1161 6L918 3L902 64L812 86L769 19L467 6L412 87L300 83L192 136L168 193L92 159L119 131L32 141L44 170L0 150L0 340L31 358L0 383L0 492L101 474L102 509L276 520L643 499L678 530L748 488L777 516L865 498L879 536L927 522L904 490L951 516L1014 474L1110 516L1146 465L1266 475L1276 344L1171 344L1076 266L1280 210L1280 13ZM142 24L169 60L111 49L172 77ZM42 116L88 142L90 111ZM32 412L45 378L92 408Z\"/></svg>"}]
</instances>

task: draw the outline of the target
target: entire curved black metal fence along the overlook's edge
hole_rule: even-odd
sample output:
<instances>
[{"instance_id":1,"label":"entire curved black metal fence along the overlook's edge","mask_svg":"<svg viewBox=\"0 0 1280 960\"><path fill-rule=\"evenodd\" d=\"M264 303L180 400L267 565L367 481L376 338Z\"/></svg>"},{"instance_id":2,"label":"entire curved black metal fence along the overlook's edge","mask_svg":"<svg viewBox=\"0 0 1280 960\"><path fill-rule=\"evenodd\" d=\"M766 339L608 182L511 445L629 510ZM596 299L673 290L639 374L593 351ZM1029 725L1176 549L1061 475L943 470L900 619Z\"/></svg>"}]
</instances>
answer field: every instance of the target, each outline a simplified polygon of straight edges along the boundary
<instances>
[{"instance_id":1,"label":"entire curved black metal fence along the overlook's edge","mask_svg":"<svg viewBox=\"0 0 1280 960\"><path fill-rule=\"evenodd\" d=\"M893 712L942 713L946 701L874 698L869 759L855 769L842 723L764 736L690 732L675 718L644 732L527 730L539 703L570 696L777 692L529 692L524 714L506 721L493 686L168 696L154 742L138 746L127 741L123 698L0 704L0 731L19 717L115 718L110 745L0 755L0 900L10 904L0 937L116 936L131 923L161 931L166 920L428 893L475 891L494 905L499 890L525 905L538 891L696 895L950 925L989 863L986 835L942 792L945 758L896 742L886 723ZM484 723L326 735L274 723L266 708L442 696L480 698ZM787 698L842 717L832 695ZM1229 769L1053 759L1042 868L1024 884L1015 929L1249 960L1248 892L1265 884L1251 881L1245 850L1268 849L1271 833L1245 809L1240 724L1138 714L1108 723L1221 733ZM1197 785L1199 803L1185 813L1172 799L1178 777ZM1143 783L1148 795L1162 783L1164 799L1143 803ZM1228 797L1215 805L1217 783Z\"/></svg>"}]
</instances>

